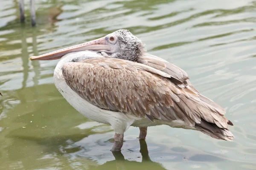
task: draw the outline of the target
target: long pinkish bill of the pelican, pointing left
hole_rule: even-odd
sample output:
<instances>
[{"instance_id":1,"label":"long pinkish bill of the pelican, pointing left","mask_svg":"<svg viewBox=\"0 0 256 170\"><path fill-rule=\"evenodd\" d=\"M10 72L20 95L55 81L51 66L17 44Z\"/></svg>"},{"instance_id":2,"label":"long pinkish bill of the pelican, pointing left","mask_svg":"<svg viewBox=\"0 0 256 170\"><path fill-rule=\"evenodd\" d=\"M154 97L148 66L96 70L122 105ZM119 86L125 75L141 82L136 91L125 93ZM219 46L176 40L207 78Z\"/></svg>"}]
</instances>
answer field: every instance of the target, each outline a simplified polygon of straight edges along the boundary
<instances>
[{"instance_id":1,"label":"long pinkish bill of the pelican, pointing left","mask_svg":"<svg viewBox=\"0 0 256 170\"><path fill-rule=\"evenodd\" d=\"M89 42L84 42L78 45L73 45L67 48L62 48L56 51L52 51L46 54L42 54L39 56L32 56L30 60L53 60L60 59L62 56L68 53L84 51L84 50L95 50L95 51L110 51L111 46L107 45L105 37L92 40Z\"/></svg>"}]
</instances>

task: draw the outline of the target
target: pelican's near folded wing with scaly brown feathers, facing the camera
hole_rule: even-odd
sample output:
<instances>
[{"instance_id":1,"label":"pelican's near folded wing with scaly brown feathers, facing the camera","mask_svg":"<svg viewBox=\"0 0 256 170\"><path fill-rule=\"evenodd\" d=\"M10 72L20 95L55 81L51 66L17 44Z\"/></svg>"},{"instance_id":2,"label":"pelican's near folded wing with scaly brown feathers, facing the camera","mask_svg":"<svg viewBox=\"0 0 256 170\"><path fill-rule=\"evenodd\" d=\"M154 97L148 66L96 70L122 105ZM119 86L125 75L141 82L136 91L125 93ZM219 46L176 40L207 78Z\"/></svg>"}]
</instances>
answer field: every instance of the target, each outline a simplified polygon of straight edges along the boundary
<instances>
[{"instance_id":1,"label":"pelican's near folded wing with scaly brown feathers, facing the camera","mask_svg":"<svg viewBox=\"0 0 256 170\"><path fill-rule=\"evenodd\" d=\"M211 123L230 132L229 120L221 109L211 105L212 101L201 100L192 86L177 86L168 74L147 65L113 58L87 59L64 64L62 73L73 91L99 108L151 121L183 120L215 138L205 130L210 126L204 124Z\"/></svg>"}]
</instances>

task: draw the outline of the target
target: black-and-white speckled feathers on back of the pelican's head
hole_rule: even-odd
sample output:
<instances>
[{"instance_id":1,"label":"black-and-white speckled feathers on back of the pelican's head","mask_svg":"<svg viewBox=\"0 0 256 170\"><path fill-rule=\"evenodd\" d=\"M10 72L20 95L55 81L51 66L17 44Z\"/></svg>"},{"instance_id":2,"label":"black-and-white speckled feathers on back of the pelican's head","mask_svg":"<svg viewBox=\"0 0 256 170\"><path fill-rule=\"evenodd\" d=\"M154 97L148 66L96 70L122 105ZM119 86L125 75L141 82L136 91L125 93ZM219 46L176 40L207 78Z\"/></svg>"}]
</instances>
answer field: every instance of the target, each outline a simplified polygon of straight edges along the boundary
<instances>
[{"instance_id":1,"label":"black-and-white speckled feathers on back of the pelican's head","mask_svg":"<svg viewBox=\"0 0 256 170\"><path fill-rule=\"evenodd\" d=\"M116 45L116 53L112 56L113 58L127 59L130 61L137 62L146 52L144 43L131 34L126 29L119 29L112 34L115 34L118 38Z\"/></svg>"}]
</instances>

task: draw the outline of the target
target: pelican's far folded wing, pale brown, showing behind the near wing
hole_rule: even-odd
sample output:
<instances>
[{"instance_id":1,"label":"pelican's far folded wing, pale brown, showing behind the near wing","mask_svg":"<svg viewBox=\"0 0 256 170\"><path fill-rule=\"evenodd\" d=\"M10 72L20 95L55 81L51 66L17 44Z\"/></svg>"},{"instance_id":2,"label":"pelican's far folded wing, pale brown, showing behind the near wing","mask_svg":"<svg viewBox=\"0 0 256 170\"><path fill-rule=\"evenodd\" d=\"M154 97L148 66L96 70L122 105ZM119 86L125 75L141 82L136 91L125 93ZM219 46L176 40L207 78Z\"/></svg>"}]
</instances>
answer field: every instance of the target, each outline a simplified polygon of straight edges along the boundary
<instances>
[{"instance_id":1,"label":"pelican's far folded wing, pale brown, showing behind the near wing","mask_svg":"<svg viewBox=\"0 0 256 170\"><path fill-rule=\"evenodd\" d=\"M207 122L215 123L222 128L227 128L227 125L233 125L230 120L228 120L228 122L226 123L227 119L225 119L223 116L226 111L220 105L200 94L199 91L197 91L189 81L189 77L186 72L183 71L181 68L167 62L160 57L147 53L141 56L138 62L169 74L171 76L171 78L169 79L174 82L178 87L183 88L183 90L190 94L190 97L192 97L191 100L194 102L194 104L190 103L189 107L201 107L198 113L200 114L200 117ZM188 97L187 94L185 94L185 96ZM188 102L189 101L187 101L187 103ZM200 102L200 104L198 102ZM206 109L206 111L203 111L204 109ZM185 111L185 113L189 114L189 116L196 122L197 119L195 115L191 114L189 110ZM220 117L219 115L222 115L222 117Z\"/></svg>"}]
</instances>

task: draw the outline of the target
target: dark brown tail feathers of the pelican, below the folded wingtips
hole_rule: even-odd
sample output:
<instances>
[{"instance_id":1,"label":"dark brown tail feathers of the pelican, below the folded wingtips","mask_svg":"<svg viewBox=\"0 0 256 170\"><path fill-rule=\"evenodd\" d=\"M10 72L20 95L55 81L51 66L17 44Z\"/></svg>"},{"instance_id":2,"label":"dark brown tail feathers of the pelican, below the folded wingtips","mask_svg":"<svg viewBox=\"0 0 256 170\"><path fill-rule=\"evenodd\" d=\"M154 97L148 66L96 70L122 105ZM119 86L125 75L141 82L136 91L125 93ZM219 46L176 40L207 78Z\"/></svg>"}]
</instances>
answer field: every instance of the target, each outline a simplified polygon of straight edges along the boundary
<instances>
[{"instance_id":1,"label":"dark brown tail feathers of the pelican, below the folded wingtips","mask_svg":"<svg viewBox=\"0 0 256 170\"><path fill-rule=\"evenodd\" d=\"M220 128L217 125L206 122L203 119L201 119L200 124L195 124L195 128L215 139L232 141L234 138L233 134L227 128Z\"/></svg>"}]
</instances>

